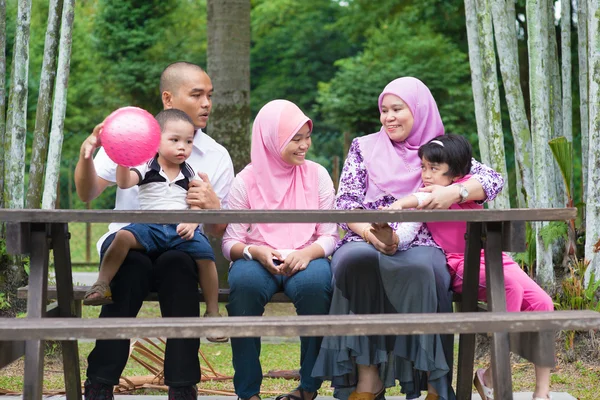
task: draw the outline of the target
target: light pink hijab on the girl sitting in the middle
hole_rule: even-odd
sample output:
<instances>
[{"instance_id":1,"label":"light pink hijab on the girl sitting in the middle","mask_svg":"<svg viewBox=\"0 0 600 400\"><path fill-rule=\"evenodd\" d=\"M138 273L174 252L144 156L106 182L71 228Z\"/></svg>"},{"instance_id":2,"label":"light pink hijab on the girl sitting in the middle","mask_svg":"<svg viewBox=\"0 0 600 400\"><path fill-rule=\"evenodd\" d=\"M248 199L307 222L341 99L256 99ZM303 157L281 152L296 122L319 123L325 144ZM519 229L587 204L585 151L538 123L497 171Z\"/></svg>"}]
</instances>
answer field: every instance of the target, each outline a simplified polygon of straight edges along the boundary
<instances>
[{"instance_id":1,"label":"light pink hijab on the girl sitting in the middle","mask_svg":"<svg viewBox=\"0 0 600 400\"><path fill-rule=\"evenodd\" d=\"M305 161L289 165L281 151L312 121L294 103L273 100L263 106L252 126L251 163L240 172L246 184L250 209L297 210L319 208L318 164ZM316 223L257 224L257 229L275 249L297 249L310 240Z\"/></svg>"}]
</instances>

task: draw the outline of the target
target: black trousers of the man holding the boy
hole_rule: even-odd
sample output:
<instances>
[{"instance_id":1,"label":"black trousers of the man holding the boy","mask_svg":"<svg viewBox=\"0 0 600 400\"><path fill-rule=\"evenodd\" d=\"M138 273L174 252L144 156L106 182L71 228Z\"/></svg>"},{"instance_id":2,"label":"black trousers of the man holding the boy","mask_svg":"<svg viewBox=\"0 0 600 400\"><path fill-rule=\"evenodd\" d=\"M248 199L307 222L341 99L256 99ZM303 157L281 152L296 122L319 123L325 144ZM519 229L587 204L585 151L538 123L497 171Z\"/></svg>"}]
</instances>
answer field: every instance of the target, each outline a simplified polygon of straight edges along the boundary
<instances>
[{"instance_id":1,"label":"black trousers of the man holding the boy","mask_svg":"<svg viewBox=\"0 0 600 400\"><path fill-rule=\"evenodd\" d=\"M104 254L114 235L102 244ZM163 317L200 317L198 268L186 253L169 250L156 258L130 251L110 283L113 304L102 307L100 318L135 317L150 291L158 292ZM165 384L190 386L200 382L200 339L167 339ZM97 340L88 356L92 383L117 385L129 357L129 340Z\"/></svg>"}]
</instances>

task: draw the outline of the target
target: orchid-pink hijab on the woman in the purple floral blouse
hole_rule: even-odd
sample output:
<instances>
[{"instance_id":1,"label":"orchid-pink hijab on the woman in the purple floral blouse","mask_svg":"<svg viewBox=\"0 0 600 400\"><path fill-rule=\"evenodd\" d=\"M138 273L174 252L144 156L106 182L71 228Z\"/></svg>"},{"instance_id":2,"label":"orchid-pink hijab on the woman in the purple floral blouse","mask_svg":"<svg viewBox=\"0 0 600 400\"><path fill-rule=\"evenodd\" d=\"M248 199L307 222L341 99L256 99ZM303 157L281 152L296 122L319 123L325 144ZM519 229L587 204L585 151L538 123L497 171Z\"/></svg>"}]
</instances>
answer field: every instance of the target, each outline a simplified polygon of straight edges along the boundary
<instances>
[{"instance_id":1,"label":"orchid-pink hijab on the woman in the purple floral blouse","mask_svg":"<svg viewBox=\"0 0 600 400\"><path fill-rule=\"evenodd\" d=\"M417 191L421 185L419 147L444 134L444 124L429 88L417 78L393 80L379 95L379 111L386 94L400 97L412 112L414 123L404 142L392 141L383 126L379 132L359 139L368 172L365 202L384 195L396 199Z\"/></svg>"}]
</instances>

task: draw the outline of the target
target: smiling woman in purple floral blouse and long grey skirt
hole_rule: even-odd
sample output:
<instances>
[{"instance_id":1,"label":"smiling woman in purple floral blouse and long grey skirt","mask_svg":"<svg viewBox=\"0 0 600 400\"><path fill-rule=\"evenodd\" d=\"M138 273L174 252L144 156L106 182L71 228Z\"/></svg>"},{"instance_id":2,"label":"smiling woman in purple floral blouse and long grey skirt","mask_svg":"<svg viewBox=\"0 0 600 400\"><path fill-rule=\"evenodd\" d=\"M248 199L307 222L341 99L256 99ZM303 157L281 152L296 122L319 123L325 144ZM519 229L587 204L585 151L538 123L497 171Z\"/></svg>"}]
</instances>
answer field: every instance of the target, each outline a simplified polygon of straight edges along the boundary
<instances>
[{"instance_id":1,"label":"smiling woman in purple floral blouse and long grey skirt","mask_svg":"<svg viewBox=\"0 0 600 400\"><path fill-rule=\"evenodd\" d=\"M379 96L379 132L353 140L344 163L336 209L377 210L423 186L418 149L444 134L431 92L416 78L390 82ZM428 187L421 208L493 200L502 177L473 160L462 185ZM423 189L422 189L423 190ZM334 253L330 314L452 312L446 258L421 223L341 224ZM380 400L400 383L407 399L454 400L452 335L326 337L313 375L331 380L334 396Z\"/></svg>"}]
</instances>

